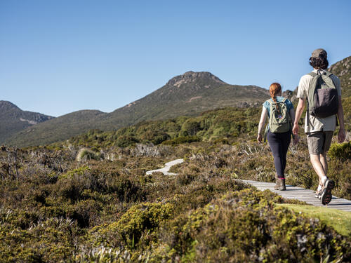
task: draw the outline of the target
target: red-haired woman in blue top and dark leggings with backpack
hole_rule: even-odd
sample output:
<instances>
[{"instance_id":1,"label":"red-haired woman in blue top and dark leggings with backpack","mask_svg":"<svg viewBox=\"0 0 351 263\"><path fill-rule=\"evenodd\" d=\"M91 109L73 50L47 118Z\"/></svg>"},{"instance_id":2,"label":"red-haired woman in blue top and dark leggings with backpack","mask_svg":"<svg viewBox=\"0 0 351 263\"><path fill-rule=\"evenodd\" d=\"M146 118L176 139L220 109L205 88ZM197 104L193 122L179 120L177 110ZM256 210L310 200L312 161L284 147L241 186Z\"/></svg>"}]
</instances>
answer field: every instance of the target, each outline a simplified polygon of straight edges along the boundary
<instances>
[{"instance_id":1,"label":"red-haired woman in blue top and dark leggings with backpack","mask_svg":"<svg viewBox=\"0 0 351 263\"><path fill-rule=\"evenodd\" d=\"M263 103L260 123L258 124L258 142L262 142L262 129L268 116L267 140L274 157L274 166L277 172L276 190L286 190L284 170L286 166L286 154L291 142L291 123L295 121L295 111L290 100L282 97L282 86L279 83L270 85L270 100ZM298 142L298 136L294 137L294 144Z\"/></svg>"}]
</instances>

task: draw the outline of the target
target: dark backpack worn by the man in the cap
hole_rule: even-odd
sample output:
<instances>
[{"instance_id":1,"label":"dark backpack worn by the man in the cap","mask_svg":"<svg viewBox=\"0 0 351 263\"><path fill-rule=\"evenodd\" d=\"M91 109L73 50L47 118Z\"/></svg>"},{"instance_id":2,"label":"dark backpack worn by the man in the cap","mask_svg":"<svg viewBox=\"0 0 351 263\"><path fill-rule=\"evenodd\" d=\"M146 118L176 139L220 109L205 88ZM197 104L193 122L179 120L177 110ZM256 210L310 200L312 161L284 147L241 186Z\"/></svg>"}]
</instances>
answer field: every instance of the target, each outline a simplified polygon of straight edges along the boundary
<instances>
[{"instance_id":1,"label":"dark backpack worn by the man in the cap","mask_svg":"<svg viewBox=\"0 0 351 263\"><path fill-rule=\"evenodd\" d=\"M319 118L326 118L338 113L338 92L331 79L331 72L318 70L309 73L313 79L308 87L307 113Z\"/></svg>"}]
</instances>

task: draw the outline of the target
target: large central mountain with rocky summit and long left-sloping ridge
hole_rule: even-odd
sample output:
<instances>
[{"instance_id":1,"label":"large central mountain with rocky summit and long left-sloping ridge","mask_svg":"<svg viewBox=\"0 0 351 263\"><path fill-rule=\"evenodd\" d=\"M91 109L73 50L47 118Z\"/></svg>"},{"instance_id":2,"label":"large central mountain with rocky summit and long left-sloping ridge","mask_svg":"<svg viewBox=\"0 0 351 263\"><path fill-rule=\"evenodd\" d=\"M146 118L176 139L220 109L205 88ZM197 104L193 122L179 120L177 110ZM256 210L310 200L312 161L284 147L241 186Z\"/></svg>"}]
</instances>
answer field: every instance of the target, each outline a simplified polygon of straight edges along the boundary
<instances>
[{"instance_id":1,"label":"large central mountain with rocky summit and long left-sloping ridge","mask_svg":"<svg viewBox=\"0 0 351 263\"><path fill-rule=\"evenodd\" d=\"M111 113L77 112L32 126L6 140L8 145L43 145L86 133L91 129L117 130L140 121L196 116L218 107L258 105L269 95L258 86L230 85L210 72L185 72L166 85Z\"/></svg>"}]
</instances>

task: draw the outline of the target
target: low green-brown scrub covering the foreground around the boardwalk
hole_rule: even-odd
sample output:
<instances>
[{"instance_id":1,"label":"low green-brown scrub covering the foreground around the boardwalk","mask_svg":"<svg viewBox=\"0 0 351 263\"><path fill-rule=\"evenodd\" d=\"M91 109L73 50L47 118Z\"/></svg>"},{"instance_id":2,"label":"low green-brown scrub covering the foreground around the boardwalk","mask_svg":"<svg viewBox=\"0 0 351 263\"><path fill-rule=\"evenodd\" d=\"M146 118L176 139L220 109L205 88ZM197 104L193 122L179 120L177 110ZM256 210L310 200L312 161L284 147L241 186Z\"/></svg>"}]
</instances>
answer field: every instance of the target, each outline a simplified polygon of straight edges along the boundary
<instances>
[{"instance_id":1,"label":"low green-brown scrub covering the foreground around the boardwalk","mask_svg":"<svg viewBox=\"0 0 351 263\"><path fill-rule=\"evenodd\" d=\"M194 136L194 135L186 135ZM343 147L343 146L340 146ZM305 142L287 182L317 187ZM86 158L86 152L99 158ZM146 170L173 159L177 176ZM351 237L332 222L237 179L274 180L266 144L185 142L3 148L3 262L347 262ZM341 166L341 163L343 164ZM332 156L335 194L350 198L350 160ZM17 172L16 172L17 171Z\"/></svg>"}]
</instances>

